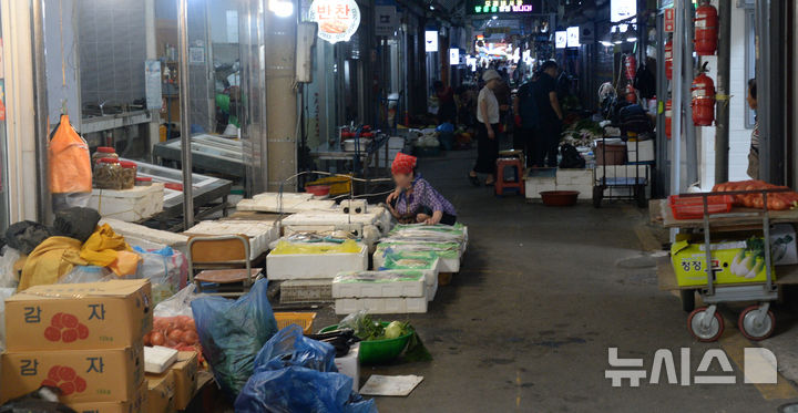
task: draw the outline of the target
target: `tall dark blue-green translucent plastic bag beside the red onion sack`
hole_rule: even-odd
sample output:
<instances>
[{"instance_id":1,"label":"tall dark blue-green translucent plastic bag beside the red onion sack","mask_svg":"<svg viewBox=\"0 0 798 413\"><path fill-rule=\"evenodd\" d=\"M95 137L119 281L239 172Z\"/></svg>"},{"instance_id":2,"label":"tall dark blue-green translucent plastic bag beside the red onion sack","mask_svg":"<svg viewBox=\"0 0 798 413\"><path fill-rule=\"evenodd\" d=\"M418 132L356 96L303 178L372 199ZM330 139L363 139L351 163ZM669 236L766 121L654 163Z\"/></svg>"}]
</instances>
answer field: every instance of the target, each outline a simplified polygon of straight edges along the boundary
<instances>
[{"instance_id":1,"label":"tall dark blue-green translucent plastic bag beside the red onion sack","mask_svg":"<svg viewBox=\"0 0 798 413\"><path fill-rule=\"evenodd\" d=\"M235 400L252 376L255 355L277 331L265 279L238 300L203 297L192 301L200 342L216 382Z\"/></svg>"}]
</instances>

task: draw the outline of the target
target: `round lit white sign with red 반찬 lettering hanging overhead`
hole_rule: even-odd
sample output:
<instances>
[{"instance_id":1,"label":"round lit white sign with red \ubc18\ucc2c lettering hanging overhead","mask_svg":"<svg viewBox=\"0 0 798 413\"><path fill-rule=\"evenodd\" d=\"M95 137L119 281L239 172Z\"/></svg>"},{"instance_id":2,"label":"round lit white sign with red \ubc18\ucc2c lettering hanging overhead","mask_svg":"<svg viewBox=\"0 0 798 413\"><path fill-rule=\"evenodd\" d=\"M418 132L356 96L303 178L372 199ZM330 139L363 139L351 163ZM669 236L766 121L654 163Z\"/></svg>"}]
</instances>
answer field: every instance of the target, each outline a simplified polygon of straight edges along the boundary
<instances>
[{"instance_id":1,"label":"round lit white sign with red \ubc18\ucc2c lettering hanging overhead","mask_svg":"<svg viewBox=\"0 0 798 413\"><path fill-rule=\"evenodd\" d=\"M330 43L348 42L360 25L355 0L314 0L308 17L318 23L318 37Z\"/></svg>"}]
</instances>

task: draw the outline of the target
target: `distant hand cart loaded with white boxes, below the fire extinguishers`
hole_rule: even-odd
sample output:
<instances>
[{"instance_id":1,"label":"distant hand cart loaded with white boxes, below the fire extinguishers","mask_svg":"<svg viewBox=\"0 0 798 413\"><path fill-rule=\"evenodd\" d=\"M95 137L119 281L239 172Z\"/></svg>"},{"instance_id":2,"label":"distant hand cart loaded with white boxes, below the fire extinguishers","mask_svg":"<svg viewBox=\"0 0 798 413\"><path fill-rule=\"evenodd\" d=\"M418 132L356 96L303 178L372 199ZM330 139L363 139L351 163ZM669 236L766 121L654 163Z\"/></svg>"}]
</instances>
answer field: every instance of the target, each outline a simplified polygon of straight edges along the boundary
<instances>
[{"instance_id":1,"label":"distant hand cart loaded with white boxes, below the fire extinguishers","mask_svg":"<svg viewBox=\"0 0 798 413\"><path fill-rule=\"evenodd\" d=\"M646 186L648 185L648 169L651 166L644 163L627 164L625 162L618 165L616 159L611 159L611 165L607 165L607 138L605 136L596 141L596 148L598 147L597 142L601 142L602 162L593 168L593 206L601 208L603 199L634 199L638 207L645 208L647 205ZM626 145L633 143L634 147L624 148L624 152L637 154L637 141L627 142ZM623 155L625 158L626 153ZM631 168L634 172L630 172ZM641 169L643 169L642 173Z\"/></svg>"}]
</instances>

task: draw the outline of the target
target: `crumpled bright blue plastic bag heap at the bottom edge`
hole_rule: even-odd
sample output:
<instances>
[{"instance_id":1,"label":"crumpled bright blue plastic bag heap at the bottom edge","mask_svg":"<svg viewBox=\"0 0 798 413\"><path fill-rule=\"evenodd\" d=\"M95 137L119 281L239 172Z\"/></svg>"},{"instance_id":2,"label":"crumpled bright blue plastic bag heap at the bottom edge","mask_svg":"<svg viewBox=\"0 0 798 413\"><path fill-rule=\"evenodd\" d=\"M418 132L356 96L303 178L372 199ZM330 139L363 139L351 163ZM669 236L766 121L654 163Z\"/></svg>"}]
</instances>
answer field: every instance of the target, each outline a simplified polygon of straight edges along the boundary
<instances>
[{"instance_id":1,"label":"crumpled bright blue plastic bag heap at the bottom edge","mask_svg":"<svg viewBox=\"0 0 798 413\"><path fill-rule=\"evenodd\" d=\"M376 413L374 400L351 391L337 372L332 345L303 335L299 326L275 334L255 359L255 374L235 402L238 413Z\"/></svg>"}]
</instances>

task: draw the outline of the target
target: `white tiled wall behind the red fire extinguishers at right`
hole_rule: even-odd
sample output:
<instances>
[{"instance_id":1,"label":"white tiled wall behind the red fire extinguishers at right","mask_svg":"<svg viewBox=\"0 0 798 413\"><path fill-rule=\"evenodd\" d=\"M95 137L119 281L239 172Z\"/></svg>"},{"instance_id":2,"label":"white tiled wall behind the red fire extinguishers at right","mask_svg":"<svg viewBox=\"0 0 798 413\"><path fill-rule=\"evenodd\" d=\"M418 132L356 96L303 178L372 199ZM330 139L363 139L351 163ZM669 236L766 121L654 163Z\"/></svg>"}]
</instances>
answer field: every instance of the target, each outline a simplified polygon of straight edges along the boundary
<instances>
[{"instance_id":1,"label":"white tiled wall behind the red fire extinguishers at right","mask_svg":"<svg viewBox=\"0 0 798 413\"><path fill-rule=\"evenodd\" d=\"M713 6L717 7L718 1L713 0ZM730 65L730 87L732 95L729 107L729 179L743 180L748 179L746 169L748 168L748 149L750 147L751 130L745 127L745 105L746 95L748 93L748 79L746 79L746 22L745 9L732 8L732 65ZM717 56L705 56L702 62L709 62L708 75L715 80L717 84ZM712 188L715 184L715 127L698 127L698 138L700 142L699 174L702 178L702 187L704 189Z\"/></svg>"}]
</instances>

